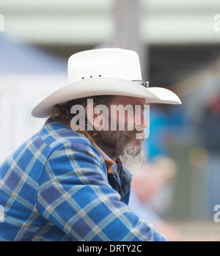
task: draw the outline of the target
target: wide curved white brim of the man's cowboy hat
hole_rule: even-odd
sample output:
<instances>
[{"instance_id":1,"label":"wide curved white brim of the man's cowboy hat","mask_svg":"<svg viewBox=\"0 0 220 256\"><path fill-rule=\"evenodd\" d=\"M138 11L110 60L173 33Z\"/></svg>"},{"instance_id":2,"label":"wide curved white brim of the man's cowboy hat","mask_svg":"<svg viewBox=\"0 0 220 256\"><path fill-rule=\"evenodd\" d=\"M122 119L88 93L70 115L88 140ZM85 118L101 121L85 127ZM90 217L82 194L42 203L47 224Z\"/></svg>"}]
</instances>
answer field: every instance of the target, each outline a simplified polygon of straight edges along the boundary
<instances>
[{"instance_id":1,"label":"wide curved white brim of the man's cowboy hat","mask_svg":"<svg viewBox=\"0 0 220 256\"><path fill-rule=\"evenodd\" d=\"M121 78L87 78L57 89L34 107L32 116L50 117L53 106L56 104L95 95L122 95L145 98L146 103L181 104L180 98L174 92L162 87L146 88Z\"/></svg>"}]
</instances>

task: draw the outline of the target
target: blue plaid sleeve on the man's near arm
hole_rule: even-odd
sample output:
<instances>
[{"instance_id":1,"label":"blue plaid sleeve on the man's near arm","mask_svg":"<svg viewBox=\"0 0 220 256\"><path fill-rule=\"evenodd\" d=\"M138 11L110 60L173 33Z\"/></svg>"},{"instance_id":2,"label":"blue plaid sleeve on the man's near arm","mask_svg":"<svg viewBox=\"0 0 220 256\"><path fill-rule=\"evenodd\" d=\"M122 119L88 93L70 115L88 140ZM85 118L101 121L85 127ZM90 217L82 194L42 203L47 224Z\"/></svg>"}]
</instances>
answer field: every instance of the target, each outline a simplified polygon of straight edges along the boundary
<instances>
[{"instance_id":1,"label":"blue plaid sleeve on the man's near arm","mask_svg":"<svg viewBox=\"0 0 220 256\"><path fill-rule=\"evenodd\" d=\"M37 211L75 241L166 241L120 201L106 176L89 145L57 147L40 179Z\"/></svg>"}]
</instances>

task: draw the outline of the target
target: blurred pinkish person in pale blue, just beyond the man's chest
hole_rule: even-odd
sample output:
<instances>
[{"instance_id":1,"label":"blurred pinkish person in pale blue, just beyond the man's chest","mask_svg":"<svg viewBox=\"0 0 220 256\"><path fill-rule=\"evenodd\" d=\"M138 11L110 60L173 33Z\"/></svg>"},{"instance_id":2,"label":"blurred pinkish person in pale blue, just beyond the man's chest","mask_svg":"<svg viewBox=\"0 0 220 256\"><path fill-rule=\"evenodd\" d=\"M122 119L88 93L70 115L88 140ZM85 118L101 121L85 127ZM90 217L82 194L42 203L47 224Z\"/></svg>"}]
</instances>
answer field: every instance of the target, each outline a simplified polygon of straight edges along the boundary
<instances>
[{"instance_id":1,"label":"blurred pinkish person in pale blue, just beyond the man's chest","mask_svg":"<svg viewBox=\"0 0 220 256\"><path fill-rule=\"evenodd\" d=\"M169 241L183 241L179 231L163 218L167 216L172 203L176 175L175 161L162 156L155 158L151 164L136 168L129 201L131 211L153 224Z\"/></svg>"}]
</instances>

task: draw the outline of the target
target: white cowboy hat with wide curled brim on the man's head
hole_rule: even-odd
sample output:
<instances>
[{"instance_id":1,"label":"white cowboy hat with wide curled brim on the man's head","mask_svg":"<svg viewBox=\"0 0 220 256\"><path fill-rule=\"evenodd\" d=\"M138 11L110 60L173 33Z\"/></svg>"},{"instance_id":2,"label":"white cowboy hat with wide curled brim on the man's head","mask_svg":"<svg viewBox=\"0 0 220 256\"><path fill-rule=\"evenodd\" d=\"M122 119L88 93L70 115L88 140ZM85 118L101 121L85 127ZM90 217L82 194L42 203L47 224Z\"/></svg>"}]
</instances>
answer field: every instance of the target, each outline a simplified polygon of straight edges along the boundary
<instances>
[{"instance_id":1,"label":"white cowboy hat with wide curled brim on the man's head","mask_svg":"<svg viewBox=\"0 0 220 256\"><path fill-rule=\"evenodd\" d=\"M169 89L148 87L142 81L139 56L121 48L81 51L68 59L68 84L32 110L34 117L50 117L54 105L94 95L145 98L146 103L181 104Z\"/></svg>"}]
</instances>

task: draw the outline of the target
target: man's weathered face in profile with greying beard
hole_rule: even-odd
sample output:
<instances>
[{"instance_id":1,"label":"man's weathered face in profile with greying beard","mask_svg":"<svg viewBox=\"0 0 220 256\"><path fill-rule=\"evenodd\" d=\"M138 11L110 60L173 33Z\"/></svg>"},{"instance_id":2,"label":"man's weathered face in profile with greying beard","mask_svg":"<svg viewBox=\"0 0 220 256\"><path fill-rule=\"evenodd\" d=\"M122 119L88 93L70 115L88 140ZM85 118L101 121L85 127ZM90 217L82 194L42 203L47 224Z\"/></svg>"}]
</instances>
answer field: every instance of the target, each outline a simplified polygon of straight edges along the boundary
<instances>
[{"instance_id":1,"label":"man's weathered face in profile with greying beard","mask_svg":"<svg viewBox=\"0 0 220 256\"><path fill-rule=\"evenodd\" d=\"M142 98L115 96L109 106L109 129L100 131L100 146L104 146L116 156L137 156L142 151L144 128L149 122L144 117ZM115 111L117 109L117 111Z\"/></svg>"}]
</instances>

